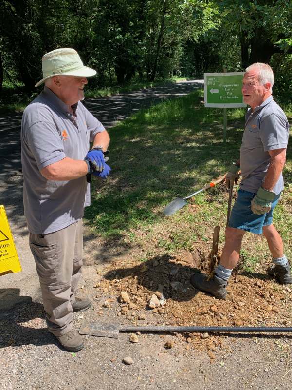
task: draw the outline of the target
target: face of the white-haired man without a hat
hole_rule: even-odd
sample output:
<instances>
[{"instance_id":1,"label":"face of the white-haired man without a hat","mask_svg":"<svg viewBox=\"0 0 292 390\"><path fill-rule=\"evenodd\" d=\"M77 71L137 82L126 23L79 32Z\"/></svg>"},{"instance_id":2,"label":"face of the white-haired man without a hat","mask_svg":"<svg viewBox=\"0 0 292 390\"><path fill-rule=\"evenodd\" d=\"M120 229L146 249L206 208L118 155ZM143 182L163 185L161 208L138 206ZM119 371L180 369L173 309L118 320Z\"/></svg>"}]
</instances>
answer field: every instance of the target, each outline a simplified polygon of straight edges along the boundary
<instances>
[{"instance_id":1,"label":"face of the white-haired man without a hat","mask_svg":"<svg viewBox=\"0 0 292 390\"><path fill-rule=\"evenodd\" d=\"M252 107L252 109L261 105L268 98L270 93L270 83L260 85L258 80L258 69L251 69L245 72L242 79L243 101Z\"/></svg>"}]
</instances>

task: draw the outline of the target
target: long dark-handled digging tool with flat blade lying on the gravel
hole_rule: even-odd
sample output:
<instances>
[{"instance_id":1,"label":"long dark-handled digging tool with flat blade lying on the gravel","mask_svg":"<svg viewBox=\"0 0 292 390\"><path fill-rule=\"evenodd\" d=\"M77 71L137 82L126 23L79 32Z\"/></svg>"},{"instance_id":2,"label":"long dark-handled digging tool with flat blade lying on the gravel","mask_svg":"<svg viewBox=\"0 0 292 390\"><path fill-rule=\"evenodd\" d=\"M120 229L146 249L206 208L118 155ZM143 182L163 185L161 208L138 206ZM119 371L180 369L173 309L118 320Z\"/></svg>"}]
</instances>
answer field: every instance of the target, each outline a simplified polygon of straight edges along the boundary
<instances>
[{"instance_id":1,"label":"long dark-handled digging tool with flat blade lying on the gravel","mask_svg":"<svg viewBox=\"0 0 292 390\"><path fill-rule=\"evenodd\" d=\"M289 327L236 327L236 326L131 326L121 325L119 322L90 322L83 321L80 328L80 334L91 336L118 338L119 333L211 333L211 332L270 332L270 333L292 333Z\"/></svg>"}]
</instances>

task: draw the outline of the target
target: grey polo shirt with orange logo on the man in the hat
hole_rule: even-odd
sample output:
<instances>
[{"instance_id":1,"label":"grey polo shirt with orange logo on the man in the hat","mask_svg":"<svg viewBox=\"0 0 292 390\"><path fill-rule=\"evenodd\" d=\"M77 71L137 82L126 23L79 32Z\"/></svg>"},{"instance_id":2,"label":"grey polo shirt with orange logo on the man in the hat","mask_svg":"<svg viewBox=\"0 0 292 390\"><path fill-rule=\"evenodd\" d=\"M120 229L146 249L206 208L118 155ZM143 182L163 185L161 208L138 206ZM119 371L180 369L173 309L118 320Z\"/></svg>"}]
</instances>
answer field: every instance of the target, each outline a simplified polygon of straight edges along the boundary
<instances>
[{"instance_id":1,"label":"grey polo shirt with orange logo on the man in the hat","mask_svg":"<svg viewBox=\"0 0 292 390\"><path fill-rule=\"evenodd\" d=\"M65 157L83 160L103 125L79 101L73 107L49 88L24 110L21 122L23 204L28 230L48 234L82 218L90 205L86 176L74 180L47 180L40 170Z\"/></svg>"}]
</instances>

